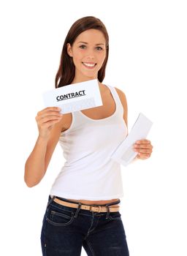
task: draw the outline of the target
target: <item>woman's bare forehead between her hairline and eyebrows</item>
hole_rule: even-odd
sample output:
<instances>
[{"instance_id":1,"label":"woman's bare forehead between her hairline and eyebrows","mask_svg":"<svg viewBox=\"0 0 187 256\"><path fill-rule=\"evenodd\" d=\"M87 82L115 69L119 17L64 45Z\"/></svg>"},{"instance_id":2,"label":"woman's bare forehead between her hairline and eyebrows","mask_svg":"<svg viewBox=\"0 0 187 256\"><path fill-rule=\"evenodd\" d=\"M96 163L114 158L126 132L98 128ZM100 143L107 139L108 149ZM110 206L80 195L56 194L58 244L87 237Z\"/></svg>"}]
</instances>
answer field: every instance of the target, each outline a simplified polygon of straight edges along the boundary
<instances>
[{"instance_id":1,"label":"woman's bare forehead between her hairline and eyebrows","mask_svg":"<svg viewBox=\"0 0 187 256\"><path fill-rule=\"evenodd\" d=\"M105 43L104 34L98 29L88 29L80 33L75 42L91 42L91 43Z\"/></svg>"}]
</instances>

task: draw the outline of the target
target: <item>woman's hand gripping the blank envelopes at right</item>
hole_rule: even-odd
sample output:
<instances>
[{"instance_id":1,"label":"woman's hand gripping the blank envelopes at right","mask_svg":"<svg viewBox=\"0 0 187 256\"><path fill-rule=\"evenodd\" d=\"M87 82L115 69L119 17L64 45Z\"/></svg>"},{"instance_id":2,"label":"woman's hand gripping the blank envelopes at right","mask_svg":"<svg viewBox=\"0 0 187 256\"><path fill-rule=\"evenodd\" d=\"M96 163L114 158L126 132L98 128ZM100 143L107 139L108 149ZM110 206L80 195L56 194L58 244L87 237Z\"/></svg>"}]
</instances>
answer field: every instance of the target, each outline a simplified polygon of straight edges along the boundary
<instances>
[{"instance_id":1,"label":"woman's hand gripping the blank envelopes at right","mask_svg":"<svg viewBox=\"0 0 187 256\"><path fill-rule=\"evenodd\" d=\"M152 153L153 146L150 140L137 140L134 144L134 151L136 151L138 159L148 159Z\"/></svg>"}]
</instances>

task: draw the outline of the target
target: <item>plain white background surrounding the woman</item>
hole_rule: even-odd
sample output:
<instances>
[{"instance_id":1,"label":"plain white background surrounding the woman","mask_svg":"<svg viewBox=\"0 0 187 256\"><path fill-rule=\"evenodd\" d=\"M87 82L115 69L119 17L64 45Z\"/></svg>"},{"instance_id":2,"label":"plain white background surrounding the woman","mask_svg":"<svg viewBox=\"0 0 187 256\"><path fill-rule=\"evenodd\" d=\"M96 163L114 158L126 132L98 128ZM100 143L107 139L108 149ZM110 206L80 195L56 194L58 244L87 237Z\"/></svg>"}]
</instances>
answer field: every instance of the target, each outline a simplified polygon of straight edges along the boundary
<instances>
[{"instance_id":1,"label":"plain white background surrounding the woman","mask_svg":"<svg viewBox=\"0 0 187 256\"><path fill-rule=\"evenodd\" d=\"M185 2L1 1L1 255L42 255L42 218L64 164L61 148L37 187L24 184L24 165L66 34L87 15L100 18L110 34L104 83L126 93L129 130L139 112L153 121L153 156L121 167L130 255L187 255Z\"/></svg>"}]
</instances>

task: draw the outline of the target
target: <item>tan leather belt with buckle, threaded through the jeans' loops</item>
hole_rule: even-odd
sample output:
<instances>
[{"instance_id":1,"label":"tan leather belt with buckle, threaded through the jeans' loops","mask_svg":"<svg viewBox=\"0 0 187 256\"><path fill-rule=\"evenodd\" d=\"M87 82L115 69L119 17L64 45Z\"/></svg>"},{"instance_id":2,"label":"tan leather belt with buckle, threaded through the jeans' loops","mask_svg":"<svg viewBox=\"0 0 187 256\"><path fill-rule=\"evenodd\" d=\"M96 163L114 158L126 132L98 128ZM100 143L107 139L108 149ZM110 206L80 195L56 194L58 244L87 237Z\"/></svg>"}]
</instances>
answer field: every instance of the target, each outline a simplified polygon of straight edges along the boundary
<instances>
[{"instance_id":1,"label":"tan leather belt with buckle, threaded through the jeans' loops","mask_svg":"<svg viewBox=\"0 0 187 256\"><path fill-rule=\"evenodd\" d=\"M63 201L63 200L60 200L58 198L54 198L54 200L56 203L59 203L61 206L67 206L67 207L72 207L72 208L78 208L78 204L77 203L69 203L69 202L66 202L66 201ZM119 211L119 206L108 206L109 208L109 211L110 212L115 212L115 211ZM96 212L107 212L107 206L87 206L87 205L84 205L82 204L80 206L80 209L83 209L83 210L88 210L88 211L96 211Z\"/></svg>"}]
</instances>

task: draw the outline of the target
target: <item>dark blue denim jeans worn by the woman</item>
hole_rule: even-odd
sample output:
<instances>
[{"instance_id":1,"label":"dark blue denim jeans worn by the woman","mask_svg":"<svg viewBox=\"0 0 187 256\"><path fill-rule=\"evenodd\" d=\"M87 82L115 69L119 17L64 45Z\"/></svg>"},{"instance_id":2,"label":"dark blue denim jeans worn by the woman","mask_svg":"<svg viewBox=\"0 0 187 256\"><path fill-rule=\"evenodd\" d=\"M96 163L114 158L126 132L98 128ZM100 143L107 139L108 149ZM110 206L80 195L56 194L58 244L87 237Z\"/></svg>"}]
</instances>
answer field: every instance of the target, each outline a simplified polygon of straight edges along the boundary
<instances>
[{"instance_id":1,"label":"dark blue denim jeans worn by the woman","mask_svg":"<svg viewBox=\"0 0 187 256\"><path fill-rule=\"evenodd\" d=\"M99 213L80 209L80 206L66 207L53 198L49 197L43 219L43 256L80 256L82 246L88 256L129 256L119 211ZM107 205L117 203L120 200Z\"/></svg>"}]
</instances>

